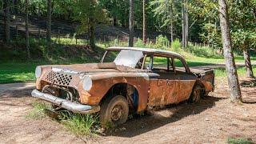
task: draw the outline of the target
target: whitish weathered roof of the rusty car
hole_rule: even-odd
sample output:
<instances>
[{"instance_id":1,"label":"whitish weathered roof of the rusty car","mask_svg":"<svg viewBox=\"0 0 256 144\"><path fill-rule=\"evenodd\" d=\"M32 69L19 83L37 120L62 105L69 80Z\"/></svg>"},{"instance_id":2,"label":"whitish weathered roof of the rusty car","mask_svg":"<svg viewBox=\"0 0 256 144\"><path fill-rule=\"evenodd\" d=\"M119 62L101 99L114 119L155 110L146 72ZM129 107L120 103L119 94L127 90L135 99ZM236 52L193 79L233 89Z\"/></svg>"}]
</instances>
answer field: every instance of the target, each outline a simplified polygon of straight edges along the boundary
<instances>
[{"instance_id":1,"label":"whitish weathered roof of the rusty car","mask_svg":"<svg viewBox=\"0 0 256 144\"><path fill-rule=\"evenodd\" d=\"M175 53L173 51L167 51L167 50L157 50L157 49L150 49L150 48L141 48L141 47L121 47L121 46L111 46L107 48L106 50L138 50L146 53L153 53L153 54L159 54L162 56L174 56L178 58L182 58L181 54Z\"/></svg>"}]
</instances>

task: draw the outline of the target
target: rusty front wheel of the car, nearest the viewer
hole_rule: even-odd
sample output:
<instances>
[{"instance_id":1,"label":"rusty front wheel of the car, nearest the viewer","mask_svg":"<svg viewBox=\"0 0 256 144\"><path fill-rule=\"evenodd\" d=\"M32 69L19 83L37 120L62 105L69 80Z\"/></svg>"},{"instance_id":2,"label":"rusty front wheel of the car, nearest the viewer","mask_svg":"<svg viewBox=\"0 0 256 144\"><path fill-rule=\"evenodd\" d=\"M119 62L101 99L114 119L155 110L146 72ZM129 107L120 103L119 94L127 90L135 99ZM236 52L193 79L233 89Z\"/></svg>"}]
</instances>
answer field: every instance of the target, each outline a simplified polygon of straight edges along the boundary
<instances>
[{"instance_id":1,"label":"rusty front wheel of the car, nearest the viewer","mask_svg":"<svg viewBox=\"0 0 256 144\"><path fill-rule=\"evenodd\" d=\"M125 97L117 95L114 98L107 98L101 106L99 120L103 125L107 122L118 126L125 123L129 114L129 106Z\"/></svg>"}]
</instances>

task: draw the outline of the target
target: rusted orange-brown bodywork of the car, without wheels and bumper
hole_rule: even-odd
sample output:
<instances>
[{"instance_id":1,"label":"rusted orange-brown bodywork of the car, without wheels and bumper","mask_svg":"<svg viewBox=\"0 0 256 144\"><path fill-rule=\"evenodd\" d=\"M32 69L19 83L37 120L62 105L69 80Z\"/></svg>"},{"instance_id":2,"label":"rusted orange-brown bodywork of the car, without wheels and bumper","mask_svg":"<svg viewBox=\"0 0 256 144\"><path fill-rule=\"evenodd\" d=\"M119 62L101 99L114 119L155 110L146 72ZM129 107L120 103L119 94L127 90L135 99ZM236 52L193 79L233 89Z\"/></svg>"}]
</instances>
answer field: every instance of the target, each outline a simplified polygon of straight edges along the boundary
<instances>
[{"instance_id":1,"label":"rusted orange-brown bodywork of the car, without wheels and bumper","mask_svg":"<svg viewBox=\"0 0 256 144\"><path fill-rule=\"evenodd\" d=\"M142 53L135 67L104 62L108 53L129 50ZM203 94L214 90L214 71L190 70L180 54L129 47L110 47L106 54L99 63L40 66L36 89L88 106L101 106L106 97L122 94L136 112L188 100L195 85L202 86ZM154 64L157 58L167 59L166 65ZM176 66L175 60L181 67ZM91 86L85 90L87 84ZM46 87L50 88L48 92Z\"/></svg>"}]
</instances>

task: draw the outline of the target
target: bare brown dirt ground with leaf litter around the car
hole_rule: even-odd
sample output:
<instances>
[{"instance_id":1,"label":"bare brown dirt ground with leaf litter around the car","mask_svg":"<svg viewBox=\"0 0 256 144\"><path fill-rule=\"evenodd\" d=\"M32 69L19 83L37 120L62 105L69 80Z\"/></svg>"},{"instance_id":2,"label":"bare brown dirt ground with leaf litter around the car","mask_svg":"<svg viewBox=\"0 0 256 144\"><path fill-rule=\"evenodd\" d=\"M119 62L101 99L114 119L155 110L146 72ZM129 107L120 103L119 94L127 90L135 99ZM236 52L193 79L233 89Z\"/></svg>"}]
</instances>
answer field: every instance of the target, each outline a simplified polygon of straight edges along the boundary
<instances>
[{"instance_id":1,"label":"bare brown dirt ground with leaf litter around the car","mask_svg":"<svg viewBox=\"0 0 256 144\"><path fill-rule=\"evenodd\" d=\"M0 143L225 143L231 137L256 142L256 87L242 87L246 103L234 105L226 79L218 79L215 92L201 102L132 118L116 132L96 138L77 137L50 118L26 118L35 101L30 91L0 94Z\"/></svg>"}]
</instances>

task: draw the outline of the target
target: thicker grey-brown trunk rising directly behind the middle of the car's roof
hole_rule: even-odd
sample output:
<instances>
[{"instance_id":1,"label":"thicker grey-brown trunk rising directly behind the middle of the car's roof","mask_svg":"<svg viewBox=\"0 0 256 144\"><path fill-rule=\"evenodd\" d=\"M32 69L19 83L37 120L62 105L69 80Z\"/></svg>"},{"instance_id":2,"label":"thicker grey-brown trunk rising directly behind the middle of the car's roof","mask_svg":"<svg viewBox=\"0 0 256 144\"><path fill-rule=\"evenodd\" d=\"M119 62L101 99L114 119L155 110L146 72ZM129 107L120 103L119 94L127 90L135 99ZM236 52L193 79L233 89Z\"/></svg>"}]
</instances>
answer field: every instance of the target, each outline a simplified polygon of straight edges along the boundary
<instances>
[{"instance_id":1,"label":"thicker grey-brown trunk rising directly behind the middle of the car's roof","mask_svg":"<svg viewBox=\"0 0 256 144\"><path fill-rule=\"evenodd\" d=\"M134 0L130 0L130 15L129 15L129 46L134 46Z\"/></svg>"}]
</instances>

